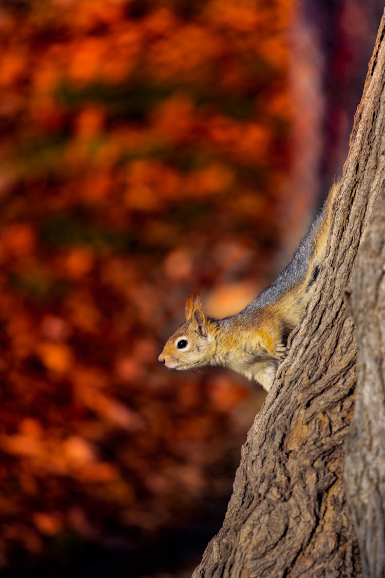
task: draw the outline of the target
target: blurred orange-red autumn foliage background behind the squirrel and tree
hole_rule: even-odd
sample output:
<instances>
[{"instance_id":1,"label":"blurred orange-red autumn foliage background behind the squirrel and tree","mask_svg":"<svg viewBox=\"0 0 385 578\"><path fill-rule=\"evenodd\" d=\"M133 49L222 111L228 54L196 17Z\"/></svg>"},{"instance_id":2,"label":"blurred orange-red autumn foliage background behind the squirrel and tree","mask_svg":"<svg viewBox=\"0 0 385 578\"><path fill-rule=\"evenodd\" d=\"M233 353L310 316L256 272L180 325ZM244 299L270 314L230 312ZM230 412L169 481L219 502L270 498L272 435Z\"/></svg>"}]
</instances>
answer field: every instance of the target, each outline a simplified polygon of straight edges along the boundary
<instances>
[{"instance_id":1,"label":"blurred orange-red autumn foliage background behind the squirrel and tree","mask_svg":"<svg viewBox=\"0 0 385 578\"><path fill-rule=\"evenodd\" d=\"M382 3L2 0L2 576L189 576L264 392L157 361L345 160Z\"/></svg>"}]
</instances>

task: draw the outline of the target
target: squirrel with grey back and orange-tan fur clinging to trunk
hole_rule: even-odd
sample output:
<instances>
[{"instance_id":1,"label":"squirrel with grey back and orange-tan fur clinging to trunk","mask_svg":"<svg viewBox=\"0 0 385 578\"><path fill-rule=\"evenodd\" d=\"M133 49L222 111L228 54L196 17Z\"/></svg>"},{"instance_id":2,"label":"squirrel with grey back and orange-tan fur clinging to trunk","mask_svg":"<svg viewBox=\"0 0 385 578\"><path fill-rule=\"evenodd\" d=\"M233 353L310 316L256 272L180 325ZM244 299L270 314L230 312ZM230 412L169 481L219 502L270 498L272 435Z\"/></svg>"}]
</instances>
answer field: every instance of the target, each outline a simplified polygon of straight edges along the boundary
<instances>
[{"instance_id":1,"label":"squirrel with grey back and orange-tan fur clinging to trunk","mask_svg":"<svg viewBox=\"0 0 385 578\"><path fill-rule=\"evenodd\" d=\"M319 216L277 279L240 313L207 317L200 297L190 295L186 321L167 340L159 361L169 369L222 365L269 391L286 357L287 339L310 301L324 260L335 182Z\"/></svg>"}]
</instances>

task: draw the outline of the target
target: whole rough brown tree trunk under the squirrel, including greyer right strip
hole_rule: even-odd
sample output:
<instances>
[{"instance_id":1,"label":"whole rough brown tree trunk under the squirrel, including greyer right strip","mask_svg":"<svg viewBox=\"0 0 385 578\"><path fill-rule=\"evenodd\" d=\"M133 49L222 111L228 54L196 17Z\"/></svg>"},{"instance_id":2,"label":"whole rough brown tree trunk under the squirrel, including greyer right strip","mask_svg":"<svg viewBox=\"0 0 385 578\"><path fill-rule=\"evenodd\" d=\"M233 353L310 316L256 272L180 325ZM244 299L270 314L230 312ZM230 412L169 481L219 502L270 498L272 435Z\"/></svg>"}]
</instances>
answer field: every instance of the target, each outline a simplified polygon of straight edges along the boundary
<instances>
[{"instance_id":1,"label":"whole rough brown tree trunk under the squirrel, including greyer right strip","mask_svg":"<svg viewBox=\"0 0 385 578\"><path fill-rule=\"evenodd\" d=\"M248 433L223 527L194 578L361 576L358 544L364 575L384 575L384 34L385 16L354 118L316 294ZM348 510L344 442L357 368Z\"/></svg>"}]
</instances>

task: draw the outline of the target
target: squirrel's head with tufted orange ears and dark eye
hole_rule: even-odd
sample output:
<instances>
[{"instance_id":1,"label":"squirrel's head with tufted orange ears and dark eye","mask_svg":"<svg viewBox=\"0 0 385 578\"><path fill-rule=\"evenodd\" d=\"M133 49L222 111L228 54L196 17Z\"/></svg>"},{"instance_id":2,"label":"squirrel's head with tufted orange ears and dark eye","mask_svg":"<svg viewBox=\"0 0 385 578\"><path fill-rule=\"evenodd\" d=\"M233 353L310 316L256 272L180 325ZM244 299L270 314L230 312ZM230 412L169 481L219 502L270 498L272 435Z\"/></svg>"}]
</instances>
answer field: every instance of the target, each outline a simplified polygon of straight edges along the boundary
<instances>
[{"instance_id":1,"label":"squirrel's head with tufted orange ears and dark eye","mask_svg":"<svg viewBox=\"0 0 385 578\"><path fill-rule=\"evenodd\" d=\"M215 335L203 312L200 297L190 295L185 310L186 323L171 335L158 357L169 369L207 365L215 350Z\"/></svg>"}]
</instances>

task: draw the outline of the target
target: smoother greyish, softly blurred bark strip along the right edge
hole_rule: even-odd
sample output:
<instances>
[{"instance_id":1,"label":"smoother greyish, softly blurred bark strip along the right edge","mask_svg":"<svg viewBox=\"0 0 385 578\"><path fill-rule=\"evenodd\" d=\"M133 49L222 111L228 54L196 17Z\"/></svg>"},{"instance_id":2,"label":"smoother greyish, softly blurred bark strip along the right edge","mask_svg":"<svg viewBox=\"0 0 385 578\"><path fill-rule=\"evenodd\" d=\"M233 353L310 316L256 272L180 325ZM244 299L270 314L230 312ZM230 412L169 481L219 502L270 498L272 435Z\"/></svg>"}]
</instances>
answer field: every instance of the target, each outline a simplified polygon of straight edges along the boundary
<instances>
[{"instance_id":1,"label":"smoother greyish, softly blurred bark strip along the right edge","mask_svg":"<svg viewBox=\"0 0 385 578\"><path fill-rule=\"evenodd\" d=\"M384 34L385 28L380 40ZM373 66L384 68L382 58L379 51ZM383 79L375 90L385 90ZM362 571L379 578L385 576L385 121L383 106L374 104L367 112L379 117L372 127L379 145L369 151L367 164L375 167L372 187L380 194L353 269L350 308L357 335L357 397L346 440L345 481Z\"/></svg>"}]
</instances>

